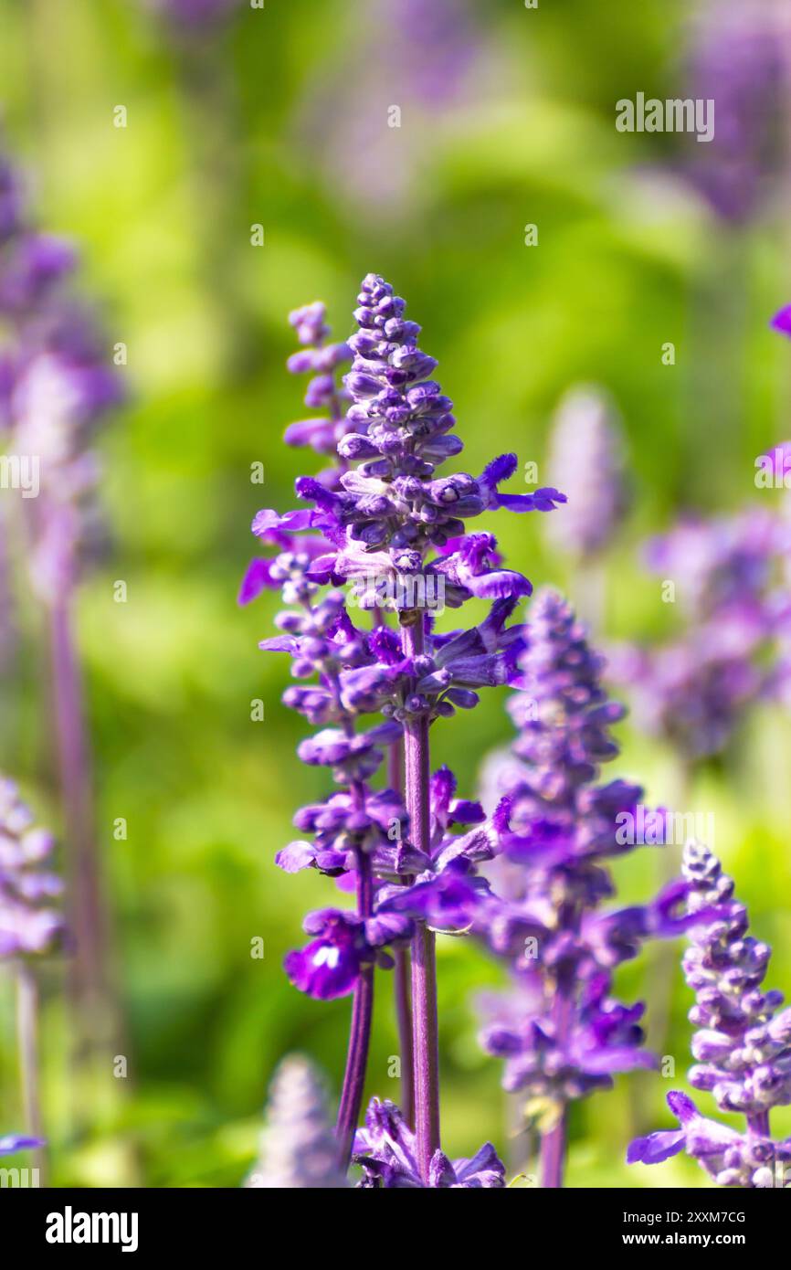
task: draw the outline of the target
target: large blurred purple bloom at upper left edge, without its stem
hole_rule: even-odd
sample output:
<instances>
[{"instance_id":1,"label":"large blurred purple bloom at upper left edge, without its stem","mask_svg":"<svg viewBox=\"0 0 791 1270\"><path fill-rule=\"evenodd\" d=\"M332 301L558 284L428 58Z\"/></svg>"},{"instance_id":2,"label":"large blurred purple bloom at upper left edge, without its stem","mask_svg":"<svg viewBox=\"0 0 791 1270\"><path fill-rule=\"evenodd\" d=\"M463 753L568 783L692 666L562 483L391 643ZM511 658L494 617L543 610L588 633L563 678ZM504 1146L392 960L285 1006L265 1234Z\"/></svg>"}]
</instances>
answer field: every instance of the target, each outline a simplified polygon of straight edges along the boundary
<instances>
[{"instance_id":1,"label":"large blurred purple bloom at upper left edge, without its stem","mask_svg":"<svg viewBox=\"0 0 791 1270\"><path fill-rule=\"evenodd\" d=\"M48 603L102 542L90 443L122 395L93 318L70 293L76 264L70 243L32 227L24 182L0 157L0 428L29 485L29 573Z\"/></svg>"}]
</instances>

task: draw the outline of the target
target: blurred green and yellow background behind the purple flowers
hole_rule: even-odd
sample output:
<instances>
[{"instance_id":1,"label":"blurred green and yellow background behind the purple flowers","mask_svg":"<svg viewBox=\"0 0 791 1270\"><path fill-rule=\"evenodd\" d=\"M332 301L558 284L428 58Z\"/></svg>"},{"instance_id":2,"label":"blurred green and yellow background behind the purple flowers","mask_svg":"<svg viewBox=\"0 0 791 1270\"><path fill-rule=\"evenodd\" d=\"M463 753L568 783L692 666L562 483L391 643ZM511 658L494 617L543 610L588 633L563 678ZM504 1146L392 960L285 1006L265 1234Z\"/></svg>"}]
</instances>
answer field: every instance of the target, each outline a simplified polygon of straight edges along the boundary
<instances>
[{"instance_id":1,"label":"blurred green and yellow background behind the purple flowers","mask_svg":"<svg viewBox=\"0 0 791 1270\"><path fill-rule=\"evenodd\" d=\"M609 558L607 639L672 625L641 566L646 535L682 509L731 512L782 497L755 490L754 457L791 422L791 348L768 329L791 287L791 50L752 38L781 6L267 0L253 9L231 0L227 14L197 24L184 18L189 8L0 0L4 146L30 177L41 225L79 244L81 288L109 343L128 348L130 400L100 441L113 546L81 588L79 631L130 1088L107 1106L96 1091L102 1110L89 1133L75 1134L53 961L44 1093L61 1185L123 1181L130 1144L146 1185L237 1185L278 1058L303 1050L333 1091L340 1082L349 1001L309 1001L281 969L303 913L329 902L331 883L273 865L296 806L322 794L321 773L295 757L303 724L279 702L286 659L256 649L274 599L236 606L254 512L291 507L295 478L315 470L312 455L281 441L303 414L300 381L284 371L287 311L325 300L344 338L359 278L385 274L439 358L470 471L508 448L542 471L566 387L595 381L611 391L634 497ZM735 11L753 27L736 30L733 56L722 56L716 41ZM715 97L721 140L618 133L615 103L637 91ZM728 149L720 95L725 103L729 91L754 126L738 137L747 161ZM119 104L123 128L114 126ZM392 105L400 127L389 126ZM528 224L538 229L535 246L524 244ZM256 225L263 245L251 243ZM661 359L667 342L673 366ZM250 481L255 462L263 488ZM510 517L495 528L515 568L565 588L568 564L538 521ZM124 605L113 601L117 579L127 583ZM24 639L1 686L0 766L57 823L41 632L20 603ZM254 698L264 721L250 719ZM509 735L493 691L474 714L437 725L434 754L472 795L486 751ZM661 803L672 753L628 721L618 739L611 773L640 779L646 801ZM776 947L771 983L786 991L790 762L791 721L767 706L701 768L692 795L695 808L715 812L716 847L755 933ZM118 817L128 820L126 841L113 838ZM649 895L659 869L656 852L635 852L616 866L622 894ZM263 960L250 956L255 936ZM620 972L625 999L645 993L649 960ZM664 1052L675 1082L618 1077L612 1093L575 1109L571 1186L705 1185L683 1157L653 1170L623 1162L635 1132L669 1125L664 1092L689 1062L689 994L674 966ZM485 1138L508 1149L499 1064L477 1046L470 1005L500 979L472 944L441 939L449 1154ZM0 998L11 1128L5 987ZM395 1053L382 977L369 1092L396 1096ZM791 1133L791 1113L774 1125Z\"/></svg>"}]
</instances>

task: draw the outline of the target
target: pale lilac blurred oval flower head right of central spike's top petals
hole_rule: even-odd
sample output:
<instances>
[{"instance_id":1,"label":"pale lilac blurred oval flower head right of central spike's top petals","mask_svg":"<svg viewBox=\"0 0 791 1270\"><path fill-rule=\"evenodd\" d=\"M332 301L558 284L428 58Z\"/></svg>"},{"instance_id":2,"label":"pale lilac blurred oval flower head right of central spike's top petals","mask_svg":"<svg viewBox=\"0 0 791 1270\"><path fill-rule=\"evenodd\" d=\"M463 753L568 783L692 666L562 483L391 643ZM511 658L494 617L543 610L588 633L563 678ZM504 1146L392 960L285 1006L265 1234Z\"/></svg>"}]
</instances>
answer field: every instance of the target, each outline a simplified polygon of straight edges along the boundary
<instances>
[{"instance_id":1,"label":"pale lilac blurred oval flower head right of central spike's top petals","mask_svg":"<svg viewBox=\"0 0 791 1270\"><path fill-rule=\"evenodd\" d=\"M580 560L602 551L627 505L623 441L607 394L593 385L564 396L552 428L550 479L569 499L547 537Z\"/></svg>"}]
</instances>

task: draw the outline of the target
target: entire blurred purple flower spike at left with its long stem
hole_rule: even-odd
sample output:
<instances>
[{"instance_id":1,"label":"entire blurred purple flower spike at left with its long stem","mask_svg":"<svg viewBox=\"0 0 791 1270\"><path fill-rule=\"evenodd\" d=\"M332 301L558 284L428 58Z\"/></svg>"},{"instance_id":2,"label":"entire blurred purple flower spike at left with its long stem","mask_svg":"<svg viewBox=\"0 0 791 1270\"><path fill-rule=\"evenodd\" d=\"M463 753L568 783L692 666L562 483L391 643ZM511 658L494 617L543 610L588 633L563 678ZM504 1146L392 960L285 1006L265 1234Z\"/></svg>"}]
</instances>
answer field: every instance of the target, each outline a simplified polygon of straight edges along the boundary
<instances>
[{"instance_id":1,"label":"entire blurred purple flower spike at left with its long stem","mask_svg":"<svg viewBox=\"0 0 791 1270\"><path fill-rule=\"evenodd\" d=\"M0 164L0 315L8 339L0 415L9 453L30 481L17 512L27 531L27 565L44 607L55 690L55 737L65 804L69 895L75 936L74 986L84 1021L99 999L114 1012L107 982L105 898L93 826L89 738L72 632L77 582L104 542L93 441L122 398L93 316L67 288L72 246L29 224L23 183ZM29 497L30 493L36 497ZM79 884L77 883L79 879Z\"/></svg>"}]
</instances>

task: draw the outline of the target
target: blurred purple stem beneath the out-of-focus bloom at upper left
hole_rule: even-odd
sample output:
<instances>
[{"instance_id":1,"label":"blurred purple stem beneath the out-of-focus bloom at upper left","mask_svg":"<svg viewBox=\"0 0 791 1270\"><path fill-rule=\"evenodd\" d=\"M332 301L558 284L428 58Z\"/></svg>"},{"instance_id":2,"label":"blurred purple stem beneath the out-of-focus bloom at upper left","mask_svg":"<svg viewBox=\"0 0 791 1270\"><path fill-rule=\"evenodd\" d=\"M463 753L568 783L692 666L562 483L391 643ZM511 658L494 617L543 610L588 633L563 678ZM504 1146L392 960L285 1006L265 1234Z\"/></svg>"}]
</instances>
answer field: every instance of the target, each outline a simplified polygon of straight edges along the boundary
<instances>
[{"instance_id":1,"label":"blurred purple stem beneath the out-of-focus bloom at upper left","mask_svg":"<svg viewBox=\"0 0 791 1270\"><path fill-rule=\"evenodd\" d=\"M93 824L90 753L83 714L80 667L71 631L71 596L48 610L55 730L70 871L74 935L72 989L89 1013L105 999L108 947Z\"/></svg>"}]
</instances>

